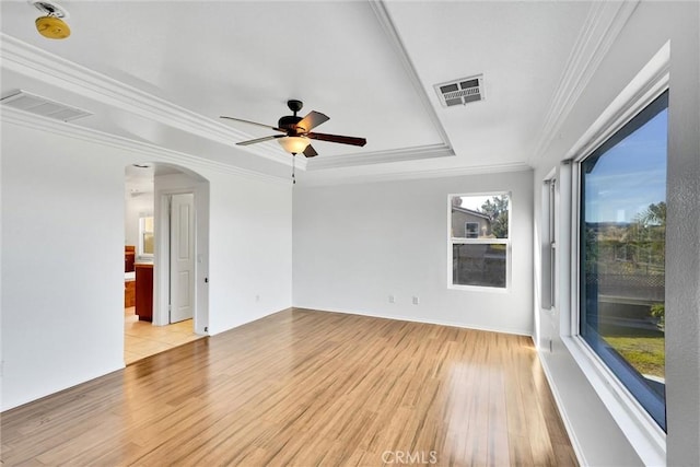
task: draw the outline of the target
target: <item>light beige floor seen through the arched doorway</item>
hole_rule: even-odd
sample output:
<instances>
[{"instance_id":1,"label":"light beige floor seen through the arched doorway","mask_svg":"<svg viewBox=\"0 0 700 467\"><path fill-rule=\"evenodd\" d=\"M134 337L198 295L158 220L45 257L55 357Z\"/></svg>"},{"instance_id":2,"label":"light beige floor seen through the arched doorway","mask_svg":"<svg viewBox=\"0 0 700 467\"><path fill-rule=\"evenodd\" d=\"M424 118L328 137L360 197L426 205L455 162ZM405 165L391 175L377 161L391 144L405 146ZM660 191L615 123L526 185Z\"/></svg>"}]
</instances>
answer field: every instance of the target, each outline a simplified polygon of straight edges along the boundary
<instances>
[{"instance_id":1,"label":"light beige floor seen through the arched doorway","mask_svg":"<svg viewBox=\"0 0 700 467\"><path fill-rule=\"evenodd\" d=\"M140 322L133 306L124 308L124 362L127 365L201 337L194 332L191 319L153 326Z\"/></svg>"}]
</instances>

